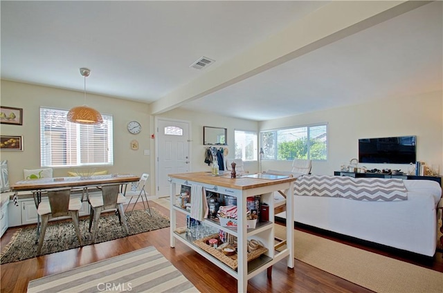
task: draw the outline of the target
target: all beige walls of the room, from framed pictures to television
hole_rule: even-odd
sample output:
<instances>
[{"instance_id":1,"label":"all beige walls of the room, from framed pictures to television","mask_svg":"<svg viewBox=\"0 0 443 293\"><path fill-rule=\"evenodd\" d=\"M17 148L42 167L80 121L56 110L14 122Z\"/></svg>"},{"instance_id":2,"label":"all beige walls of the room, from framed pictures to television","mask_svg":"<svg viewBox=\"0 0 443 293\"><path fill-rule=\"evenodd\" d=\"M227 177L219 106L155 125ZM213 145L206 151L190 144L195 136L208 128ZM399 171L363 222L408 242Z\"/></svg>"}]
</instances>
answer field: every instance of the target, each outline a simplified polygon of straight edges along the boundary
<instances>
[{"instance_id":1,"label":"all beige walls of the room, from framed pictures to television","mask_svg":"<svg viewBox=\"0 0 443 293\"><path fill-rule=\"evenodd\" d=\"M318 122L328 123L329 148L327 162L313 162L314 173L332 175L341 164L347 164L350 159L356 158L359 138L397 135L417 135L417 160L422 160L426 164L439 164L442 171L442 100L443 96L440 91L385 99L370 104L333 108L266 122L183 111L179 108L158 117L190 121L192 171L209 171L208 165L204 163L203 126L228 129L228 158L233 158L235 129L259 131ZM40 167L39 107L69 109L80 104L83 104L83 93L80 92L1 81L1 105L24 109L22 126L0 124L2 135L24 136L24 151L0 152L1 160L8 160L10 182L21 180L23 169ZM155 140L150 138L150 135L154 133L155 117L149 115L149 105L92 94L87 95L87 104L114 117L114 166L106 169L111 173L135 173L136 175L150 173L148 190L151 194L155 194ZM126 130L126 125L131 120L141 122L140 134L132 135ZM134 139L140 144L138 151L132 151L129 148L129 142ZM150 155L144 155L144 150L150 150ZM365 164L365 167L406 171L408 166ZM255 161L248 162L245 164L245 169L251 173L255 172L258 170L258 164ZM263 170L266 169L289 170L291 162L264 161ZM68 170L55 169L54 176L66 176Z\"/></svg>"}]
</instances>

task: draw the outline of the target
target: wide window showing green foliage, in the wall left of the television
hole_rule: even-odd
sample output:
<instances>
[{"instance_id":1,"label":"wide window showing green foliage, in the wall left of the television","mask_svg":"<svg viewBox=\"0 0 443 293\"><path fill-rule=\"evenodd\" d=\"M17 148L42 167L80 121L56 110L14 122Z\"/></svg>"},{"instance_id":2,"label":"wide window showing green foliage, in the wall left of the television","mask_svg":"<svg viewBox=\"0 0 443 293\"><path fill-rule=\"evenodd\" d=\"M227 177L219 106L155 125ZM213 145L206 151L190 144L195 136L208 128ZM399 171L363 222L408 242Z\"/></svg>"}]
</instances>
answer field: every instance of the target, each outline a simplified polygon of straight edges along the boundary
<instances>
[{"instance_id":1,"label":"wide window showing green foliage, in the wall left of the television","mask_svg":"<svg viewBox=\"0 0 443 293\"><path fill-rule=\"evenodd\" d=\"M327 160L327 125L262 131L263 160Z\"/></svg>"}]
</instances>

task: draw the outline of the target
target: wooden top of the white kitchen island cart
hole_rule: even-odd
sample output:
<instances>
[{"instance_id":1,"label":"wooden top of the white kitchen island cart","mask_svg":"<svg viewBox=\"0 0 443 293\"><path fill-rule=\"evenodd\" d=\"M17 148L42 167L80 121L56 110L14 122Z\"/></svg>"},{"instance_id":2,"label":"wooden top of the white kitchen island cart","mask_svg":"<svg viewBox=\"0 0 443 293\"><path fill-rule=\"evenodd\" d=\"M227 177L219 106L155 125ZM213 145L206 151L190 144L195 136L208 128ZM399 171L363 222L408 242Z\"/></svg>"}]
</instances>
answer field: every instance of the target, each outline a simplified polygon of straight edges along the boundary
<instances>
[{"instance_id":1,"label":"wooden top of the white kitchen island cart","mask_svg":"<svg viewBox=\"0 0 443 293\"><path fill-rule=\"evenodd\" d=\"M210 172L190 172L190 173L176 173L169 174L171 178L190 180L195 182L206 183L209 185L218 185L222 187L229 187L233 189L253 189L257 187L265 187L269 185L277 185L295 181L296 178L289 176L270 176L276 179L251 178L255 174L246 174L240 178L230 178L230 173L223 176L213 176ZM265 175L265 174L262 174Z\"/></svg>"}]
</instances>

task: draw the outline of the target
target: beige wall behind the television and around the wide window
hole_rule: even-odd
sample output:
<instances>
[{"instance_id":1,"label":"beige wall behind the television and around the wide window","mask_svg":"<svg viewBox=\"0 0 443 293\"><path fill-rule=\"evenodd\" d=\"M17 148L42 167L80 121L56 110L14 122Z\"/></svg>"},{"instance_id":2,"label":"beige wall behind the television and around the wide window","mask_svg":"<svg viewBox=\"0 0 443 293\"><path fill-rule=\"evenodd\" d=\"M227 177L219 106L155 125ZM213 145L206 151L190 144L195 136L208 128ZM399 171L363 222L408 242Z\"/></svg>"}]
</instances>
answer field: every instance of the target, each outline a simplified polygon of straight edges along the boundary
<instances>
[{"instance_id":1,"label":"beige wall behind the television and around the wide window","mask_svg":"<svg viewBox=\"0 0 443 293\"><path fill-rule=\"evenodd\" d=\"M327 122L328 160L313 162L312 172L333 175L341 164L358 158L359 138L417 135L417 160L443 167L443 94L441 91L379 100L284 119L260 122L260 130ZM407 164L364 164L369 169L408 170ZM262 163L263 169L291 169L291 162ZM363 164L359 164L359 167Z\"/></svg>"}]
</instances>

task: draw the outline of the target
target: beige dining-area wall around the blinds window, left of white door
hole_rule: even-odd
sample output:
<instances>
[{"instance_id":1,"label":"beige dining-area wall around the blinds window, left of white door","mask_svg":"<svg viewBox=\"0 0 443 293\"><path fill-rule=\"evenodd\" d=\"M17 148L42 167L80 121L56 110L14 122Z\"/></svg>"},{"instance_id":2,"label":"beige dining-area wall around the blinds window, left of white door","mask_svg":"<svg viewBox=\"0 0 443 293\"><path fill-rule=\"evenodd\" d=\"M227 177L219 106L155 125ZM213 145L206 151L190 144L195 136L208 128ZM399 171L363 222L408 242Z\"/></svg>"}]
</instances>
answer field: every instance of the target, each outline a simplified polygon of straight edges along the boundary
<instances>
[{"instance_id":1,"label":"beige dining-area wall around the blinds window, left of white door","mask_svg":"<svg viewBox=\"0 0 443 293\"><path fill-rule=\"evenodd\" d=\"M48 106L69 110L84 104L83 93L66 91L45 86L18 82L1 81L1 106L23 108L23 125L0 124L1 135L23 135L24 151L1 151L1 160L8 160L10 184L23 179L23 169L40 167L39 108ZM101 95L87 94L87 104L101 113L114 117L114 166L100 168L110 173L134 173L141 175L150 171L150 155L143 155L143 149L150 149L150 115L147 104L130 102ZM131 120L141 122L142 131L130 134L126 125ZM138 140L140 148L129 148L131 140ZM54 176L67 176L69 168L54 169Z\"/></svg>"}]
</instances>

